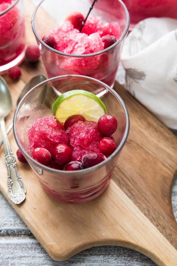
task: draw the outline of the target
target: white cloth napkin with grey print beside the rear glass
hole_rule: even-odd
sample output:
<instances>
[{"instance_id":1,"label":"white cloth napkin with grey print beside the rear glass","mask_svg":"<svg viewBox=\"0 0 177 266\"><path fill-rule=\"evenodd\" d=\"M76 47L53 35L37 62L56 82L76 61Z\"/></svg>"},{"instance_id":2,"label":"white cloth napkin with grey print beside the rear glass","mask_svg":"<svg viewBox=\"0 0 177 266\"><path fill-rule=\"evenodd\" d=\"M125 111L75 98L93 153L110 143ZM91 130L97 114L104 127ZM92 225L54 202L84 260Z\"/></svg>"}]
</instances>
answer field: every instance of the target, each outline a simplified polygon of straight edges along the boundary
<instances>
[{"instance_id":1,"label":"white cloth napkin with grey print beside the rear glass","mask_svg":"<svg viewBox=\"0 0 177 266\"><path fill-rule=\"evenodd\" d=\"M126 89L166 126L177 129L177 20L148 18L125 40Z\"/></svg>"}]
</instances>

